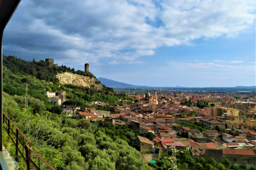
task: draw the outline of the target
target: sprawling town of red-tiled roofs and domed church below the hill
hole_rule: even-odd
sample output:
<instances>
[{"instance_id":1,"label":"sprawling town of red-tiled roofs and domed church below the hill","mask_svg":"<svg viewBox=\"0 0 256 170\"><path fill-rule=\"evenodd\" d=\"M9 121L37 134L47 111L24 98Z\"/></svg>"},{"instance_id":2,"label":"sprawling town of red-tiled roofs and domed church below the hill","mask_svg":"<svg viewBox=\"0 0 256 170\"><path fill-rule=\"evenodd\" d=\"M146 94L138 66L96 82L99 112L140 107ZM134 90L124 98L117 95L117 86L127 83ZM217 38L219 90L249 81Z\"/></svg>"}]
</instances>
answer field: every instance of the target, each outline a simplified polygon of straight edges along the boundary
<instances>
[{"instance_id":1,"label":"sprawling town of red-tiled roofs and domed church below the hill","mask_svg":"<svg viewBox=\"0 0 256 170\"><path fill-rule=\"evenodd\" d=\"M64 101L53 92L44 92L49 101ZM53 93L51 97L50 94ZM61 97L62 96L62 97ZM50 98L51 97L51 98ZM187 150L192 157L213 157L217 162L228 159L237 165L256 163L256 96L239 93L171 92L127 94L133 100L119 100L119 105L93 101L90 108L75 108L75 114L91 122L130 125L141 133L152 132L152 140L137 136L140 152L152 153L144 161L168 154L173 146ZM61 99L62 98L62 99ZM108 106L111 111L96 110ZM63 111L72 116L72 110Z\"/></svg>"}]
</instances>

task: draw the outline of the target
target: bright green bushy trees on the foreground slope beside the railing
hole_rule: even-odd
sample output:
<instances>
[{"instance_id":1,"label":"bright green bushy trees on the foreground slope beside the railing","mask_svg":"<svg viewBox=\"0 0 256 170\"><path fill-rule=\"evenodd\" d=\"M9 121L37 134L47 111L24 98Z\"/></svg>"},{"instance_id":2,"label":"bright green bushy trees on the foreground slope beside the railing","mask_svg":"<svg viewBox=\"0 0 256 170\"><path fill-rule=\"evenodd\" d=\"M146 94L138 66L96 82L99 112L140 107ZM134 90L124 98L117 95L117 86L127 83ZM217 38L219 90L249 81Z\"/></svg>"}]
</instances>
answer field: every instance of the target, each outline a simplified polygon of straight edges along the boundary
<instances>
[{"instance_id":1,"label":"bright green bushy trees on the foreground slope beside the railing","mask_svg":"<svg viewBox=\"0 0 256 170\"><path fill-rule=\"evenodd\" d=\"M137 133L130 132L130 128L125 127L126 131L129 129L125 132L121 126L117 126L120 135L111 136L109 134L112 129L108 130L107 126L113 126L108 123L99 126L87 119L72 119L45 110L33 114L32 110L24 110L22 105L15 102L18 97L4 93L4 106L7 106L4 107L5 113L28 137L32 149L56 169L143 169L139 151L122 139L131 139L130 144L134 143L133 139ZM8 107L9 104L13 106ZM126 137L122 136L122 133L125 133ZM6 140L4 145L11 149L9 143L10 141Z\"/></svg>"}]
</instances>

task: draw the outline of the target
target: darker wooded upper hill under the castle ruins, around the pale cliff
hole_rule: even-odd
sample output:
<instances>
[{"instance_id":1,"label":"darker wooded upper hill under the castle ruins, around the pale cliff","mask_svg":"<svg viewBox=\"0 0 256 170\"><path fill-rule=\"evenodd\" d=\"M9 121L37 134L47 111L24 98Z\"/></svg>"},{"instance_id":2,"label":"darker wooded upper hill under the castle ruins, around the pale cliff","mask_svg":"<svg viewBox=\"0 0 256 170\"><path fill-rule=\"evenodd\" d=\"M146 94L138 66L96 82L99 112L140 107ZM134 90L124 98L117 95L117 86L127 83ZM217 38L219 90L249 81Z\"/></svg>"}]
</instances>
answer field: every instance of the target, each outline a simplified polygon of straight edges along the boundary
<instances>
[{"instance_id":1,"label":"darker wooded upper hill under the castle ruins, around the pale cliff","mask_svg":"<svg viewBox=\"0 0 256 170\"><path fill-rule=\"evenodd\" d=\"M90 72L74 71L74 68L70 69L66 66L48 67L43 60L25 61L15 56L3 56L3 66L3 90L10 95L25 96L27 83L28 95L45 102L48 100L43 96L43 91L58 90L65 90L67 99L77 98L84 104L92 101L114 104L119 99L112 88L102 85ZM66 79L72 80L68 82L59 77L59 81L56 75L71 75L75 78L72 80L71 76L67 76ZM76 84L79 82L76 78L87 81L87 85Z\"/></svg>"}]
</instances>

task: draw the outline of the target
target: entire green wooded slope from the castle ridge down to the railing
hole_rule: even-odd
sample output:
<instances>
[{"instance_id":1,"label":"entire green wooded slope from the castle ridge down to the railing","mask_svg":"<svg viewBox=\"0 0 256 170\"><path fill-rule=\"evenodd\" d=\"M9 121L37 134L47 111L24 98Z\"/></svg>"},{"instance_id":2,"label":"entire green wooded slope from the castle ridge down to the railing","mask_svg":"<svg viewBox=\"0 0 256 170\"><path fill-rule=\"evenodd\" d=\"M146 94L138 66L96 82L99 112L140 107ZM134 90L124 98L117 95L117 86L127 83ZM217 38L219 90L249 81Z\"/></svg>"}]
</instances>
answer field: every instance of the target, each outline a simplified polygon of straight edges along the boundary
<instances>
[{"instance_id":1,"label":"entire green wooded slope from the castle ridge down to the railing","mask_svg":"<svg viewBox=\"0 0 256 170\"><path fill-rule=\"evenodd\" d=\"M57 72L85 77L84 72L70 70L66 66L48 67L44 61L30 62L4 56L4 113L31 141L32 148L57 170L143 169L141 155L135 149L135 136L143 135L139 131L126 125L120 128L112 123L90 123L82 116L69 117L63 113L62 105L53 106L48 102L49 98L43 95L43 91L65 90L65 99L79 100L81 109L92 107L88 102L95 100L109 104L115 104L120 98L130 100L125 94L117 94L112 88L101 85L91 73L87 74L87 79L101 88L61 83ZM25 109L26 84L28 109ZM93 107L109 109L108 105ZM3 145L10 153L15 150L5 132ZM18 154L17 159L22 160L22 157ZM37 161L33 155L31 159ZM18 161L18 164L20 169L26 169L24 161Z\"/></svg>"}]
</instances>

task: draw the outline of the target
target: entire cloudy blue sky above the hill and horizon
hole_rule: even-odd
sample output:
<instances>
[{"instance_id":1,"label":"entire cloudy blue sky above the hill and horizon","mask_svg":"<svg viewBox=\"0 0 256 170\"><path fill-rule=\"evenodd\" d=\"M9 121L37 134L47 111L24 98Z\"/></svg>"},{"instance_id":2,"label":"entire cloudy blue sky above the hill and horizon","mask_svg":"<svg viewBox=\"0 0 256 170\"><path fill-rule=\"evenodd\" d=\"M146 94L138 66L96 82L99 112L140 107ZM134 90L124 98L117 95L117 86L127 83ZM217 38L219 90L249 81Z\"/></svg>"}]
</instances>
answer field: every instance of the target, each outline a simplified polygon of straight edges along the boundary
<instances>
[{"instance_id":1,"label":"entire cloudy blue sky above the hill and horizon","mask_svg":"<svg viewBox=\"0 0 256 170\"><path fill-rule=\"evenodd\" d=\"M255 0L22 0L3 54L132 85L256 85Z\"/></svg>"}]
</instances>

